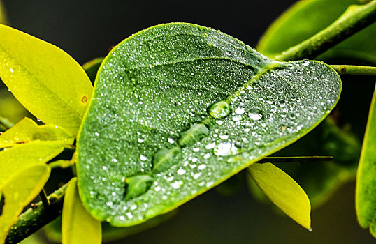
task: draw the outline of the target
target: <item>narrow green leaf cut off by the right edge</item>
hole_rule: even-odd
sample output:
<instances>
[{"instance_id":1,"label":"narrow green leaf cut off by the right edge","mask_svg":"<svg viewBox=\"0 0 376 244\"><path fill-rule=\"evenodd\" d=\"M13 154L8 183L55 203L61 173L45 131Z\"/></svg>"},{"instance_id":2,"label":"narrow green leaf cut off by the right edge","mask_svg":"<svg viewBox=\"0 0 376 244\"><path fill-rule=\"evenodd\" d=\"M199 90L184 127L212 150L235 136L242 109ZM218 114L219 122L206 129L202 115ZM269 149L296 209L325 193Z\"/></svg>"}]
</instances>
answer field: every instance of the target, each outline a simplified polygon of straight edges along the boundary
<instances>
[{"instance_id":1,"label":"narrow green leaf cut off by the right edge","mask_svg":"<svg viewBox=\"0 0 376 244\"><path fill-rule=\"evenodd\" d=\"M376 238L376 90L373 94L356 176L355 206L359 224L369 227Z\"/></svg>"}]
</instances>

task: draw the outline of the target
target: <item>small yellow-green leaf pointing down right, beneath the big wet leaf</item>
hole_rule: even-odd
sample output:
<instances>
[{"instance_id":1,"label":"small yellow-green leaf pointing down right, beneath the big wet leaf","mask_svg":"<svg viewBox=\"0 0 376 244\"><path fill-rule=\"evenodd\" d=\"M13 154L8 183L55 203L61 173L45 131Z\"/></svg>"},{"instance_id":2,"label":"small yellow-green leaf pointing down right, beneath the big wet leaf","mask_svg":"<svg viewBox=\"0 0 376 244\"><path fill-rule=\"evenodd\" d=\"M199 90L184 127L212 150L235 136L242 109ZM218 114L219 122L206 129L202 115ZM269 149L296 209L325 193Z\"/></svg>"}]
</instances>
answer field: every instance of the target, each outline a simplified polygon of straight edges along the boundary
<instances>
[{"instance_id":1,"label":"small yellow-green leaf pointing down right, beneath the big wet leaf","mask_svg":"<svg viewBox=\"0 0 376 244\"><path fill-rule=\"evenodd\" d=\"M310 199L294 179L271 163L253 164L247 169L270 201L298 224L311 229Z\"/></svg>"}]
</instances>

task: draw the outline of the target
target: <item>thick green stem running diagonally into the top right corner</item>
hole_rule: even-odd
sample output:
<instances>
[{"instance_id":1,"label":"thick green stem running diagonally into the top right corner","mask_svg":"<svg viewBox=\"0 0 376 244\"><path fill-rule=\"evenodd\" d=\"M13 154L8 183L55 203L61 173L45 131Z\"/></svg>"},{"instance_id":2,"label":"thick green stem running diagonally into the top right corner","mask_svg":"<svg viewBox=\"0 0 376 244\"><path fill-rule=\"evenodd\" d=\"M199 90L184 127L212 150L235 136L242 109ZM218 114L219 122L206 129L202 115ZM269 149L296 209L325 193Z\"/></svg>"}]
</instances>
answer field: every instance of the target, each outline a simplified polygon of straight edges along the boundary
<instances>
[{"instance_id":1,"label":"thick green stem running diagonally into the top right corner","mask_svg":"<svg viewBox=\"0 0 376 244\"><path fill-rule=\"evenodd\" d=\"M370 1L366 5L349 6L345 13L333 24L302 43L275 56L275 59L279 61L312 59L375 21L376 0Z\"/></svg>"}]
</instances>

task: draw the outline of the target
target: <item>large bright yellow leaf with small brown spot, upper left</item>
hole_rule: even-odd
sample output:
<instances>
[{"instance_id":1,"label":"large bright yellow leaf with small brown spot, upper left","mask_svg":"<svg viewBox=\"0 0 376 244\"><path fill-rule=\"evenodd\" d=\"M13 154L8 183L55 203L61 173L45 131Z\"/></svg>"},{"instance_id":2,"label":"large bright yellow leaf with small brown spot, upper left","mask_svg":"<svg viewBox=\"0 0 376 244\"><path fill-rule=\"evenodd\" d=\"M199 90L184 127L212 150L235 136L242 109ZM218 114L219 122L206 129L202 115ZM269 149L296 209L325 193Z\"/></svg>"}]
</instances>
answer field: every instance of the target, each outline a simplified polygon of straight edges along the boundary
<instances>
[{"instance_id":1,"label":"large bright yellow leaf with small brown spot, upper left","mask_svg":"<svg viewBox=\"0 0 376 244\"><path fill-rule=\"evenodd\" d=\"M58 47L0 25L0 78L44 123L76 135L92 96L81 66Z\"/></svg>"}]
</instances>

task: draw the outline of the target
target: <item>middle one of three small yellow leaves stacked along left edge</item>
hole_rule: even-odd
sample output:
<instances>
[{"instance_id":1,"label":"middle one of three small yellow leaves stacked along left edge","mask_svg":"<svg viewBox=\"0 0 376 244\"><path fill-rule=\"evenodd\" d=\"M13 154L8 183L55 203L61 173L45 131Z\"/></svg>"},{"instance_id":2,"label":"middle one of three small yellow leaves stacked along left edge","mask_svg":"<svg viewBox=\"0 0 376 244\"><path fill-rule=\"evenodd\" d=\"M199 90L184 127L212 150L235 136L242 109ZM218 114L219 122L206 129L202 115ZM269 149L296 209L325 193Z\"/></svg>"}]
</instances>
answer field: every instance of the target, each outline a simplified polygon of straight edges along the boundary
<instances>
[{"instance_id":1,"label":"middle one of three small yellow leaves stacked along left edge","mask_svg":"<svg viewBox=\"0 0 376 244\"><path fill-rule=\"evenodd\" d=\"M0 151L0 187L18 171L48 162L62 153L63 149L61 145L38 142Z\"/></svg>"}]
</instances>

